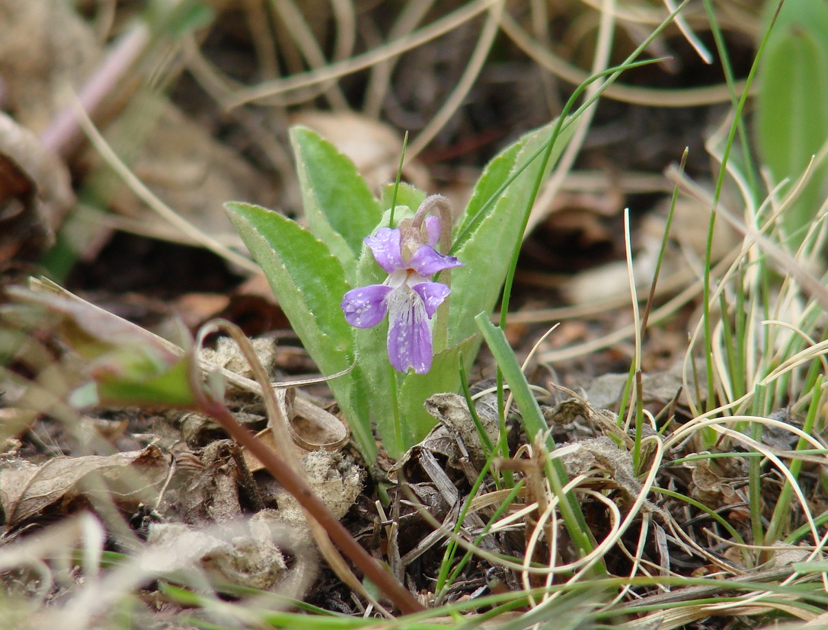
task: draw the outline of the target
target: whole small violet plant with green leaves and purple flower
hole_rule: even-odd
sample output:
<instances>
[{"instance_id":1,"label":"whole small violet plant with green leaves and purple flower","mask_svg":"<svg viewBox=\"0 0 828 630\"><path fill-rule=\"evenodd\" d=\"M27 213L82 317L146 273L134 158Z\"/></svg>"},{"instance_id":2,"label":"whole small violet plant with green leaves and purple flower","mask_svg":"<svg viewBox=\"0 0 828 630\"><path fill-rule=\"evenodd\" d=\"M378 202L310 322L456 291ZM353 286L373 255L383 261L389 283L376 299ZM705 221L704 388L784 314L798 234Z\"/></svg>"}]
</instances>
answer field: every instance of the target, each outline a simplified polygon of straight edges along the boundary
<instances>
[{"instance_id":1,"label":"whole small violet plant with green leaves and purple flower","mask_svg":"<svg viewBox=\"0 0 828 630\"><path fill-rule=\"evenodd\" d=\"M440 195L402 183L377 199L306 127L291 129L306 226L226 204L310 357L336 375L331 391L367 462L374 430L397 458L434 426L426 398L460 390L460 363L469 370L481 343L474 316L498 301L532 184L569 135L560 129L553 121L494 157L455 226Z\"/></svg>"}]
</instances>

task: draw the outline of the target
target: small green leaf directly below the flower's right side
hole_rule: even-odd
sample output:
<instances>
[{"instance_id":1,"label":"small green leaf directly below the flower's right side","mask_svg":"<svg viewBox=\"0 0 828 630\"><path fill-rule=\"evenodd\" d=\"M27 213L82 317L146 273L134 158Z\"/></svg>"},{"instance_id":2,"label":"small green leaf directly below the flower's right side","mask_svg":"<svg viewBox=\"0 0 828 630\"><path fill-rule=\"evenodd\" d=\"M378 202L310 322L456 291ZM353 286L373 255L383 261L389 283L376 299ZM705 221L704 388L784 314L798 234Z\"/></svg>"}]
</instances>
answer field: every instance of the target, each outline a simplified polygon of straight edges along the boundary
<instances>
[{"instance_id":1,"label":"small green leaf directly below the flower's right side","mask_svg":"<svg viewBox=\"0 0 828 630\"><path fill-rule=\"evenodd\" d=\"M379 435L383 437L386 450L392 457L399 458L407 448L415 445L428 435L437 421L426 411L426 399L438 392L459 392L460 371L457 358L465 356L474 345L474 337L464 339L460 344L447 348L434 355L431 370L426 374L408 373L402 380L397 404L402 418L402 445L392 444L394 434L392 427L377 422ZM386 438L388 435L388 438Z\"/></svg>"}]
</instances>

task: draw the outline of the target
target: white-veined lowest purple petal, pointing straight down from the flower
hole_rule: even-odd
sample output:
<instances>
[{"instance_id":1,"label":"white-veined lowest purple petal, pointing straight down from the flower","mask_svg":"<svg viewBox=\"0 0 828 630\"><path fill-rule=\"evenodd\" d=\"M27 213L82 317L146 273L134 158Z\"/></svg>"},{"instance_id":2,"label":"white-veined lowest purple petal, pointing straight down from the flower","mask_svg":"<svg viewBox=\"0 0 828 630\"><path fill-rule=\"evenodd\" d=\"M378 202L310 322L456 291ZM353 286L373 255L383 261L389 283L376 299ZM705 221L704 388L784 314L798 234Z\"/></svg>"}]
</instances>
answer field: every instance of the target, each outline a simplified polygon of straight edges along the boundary
<instances>
[{"instance_id":1,"label":"white-veined lowest purple petal, pointing straight down from the flower","mask_svg":"<svg viewBox=\"0 0 828 630\"><path fill-rule=\"evenodd\" d=\"M419 293L399 290L388 301L388 360L399 372L431 369L431 328Z\"/></svg>"}]
</instances>

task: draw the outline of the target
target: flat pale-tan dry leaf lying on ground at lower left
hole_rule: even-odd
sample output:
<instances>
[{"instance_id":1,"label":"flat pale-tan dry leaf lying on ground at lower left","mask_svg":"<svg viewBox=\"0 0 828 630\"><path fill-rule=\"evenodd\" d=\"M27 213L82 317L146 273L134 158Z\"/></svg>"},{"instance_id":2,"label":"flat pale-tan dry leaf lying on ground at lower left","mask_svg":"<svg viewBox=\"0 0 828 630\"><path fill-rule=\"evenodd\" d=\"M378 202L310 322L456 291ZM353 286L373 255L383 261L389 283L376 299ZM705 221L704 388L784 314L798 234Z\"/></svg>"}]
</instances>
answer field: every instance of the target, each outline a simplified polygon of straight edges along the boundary
<instances>
[{"instance_id":1,"label":"flat pale-tan dry leaf lying on ground at lower left","mask_svg":"<svg viewBox=\"0 0 828 630\"><path fill-rule=\"evenodd\" d=\"M152 503L156 486L166 479L167 462L157 446L112 455L56 457L46 464L22 460L0 470L0 504L7 531L51 505L70 503L96 488L108 491L124 509ZM101 483L96 484L97 477Z\"/></svg>"}]
</instances>

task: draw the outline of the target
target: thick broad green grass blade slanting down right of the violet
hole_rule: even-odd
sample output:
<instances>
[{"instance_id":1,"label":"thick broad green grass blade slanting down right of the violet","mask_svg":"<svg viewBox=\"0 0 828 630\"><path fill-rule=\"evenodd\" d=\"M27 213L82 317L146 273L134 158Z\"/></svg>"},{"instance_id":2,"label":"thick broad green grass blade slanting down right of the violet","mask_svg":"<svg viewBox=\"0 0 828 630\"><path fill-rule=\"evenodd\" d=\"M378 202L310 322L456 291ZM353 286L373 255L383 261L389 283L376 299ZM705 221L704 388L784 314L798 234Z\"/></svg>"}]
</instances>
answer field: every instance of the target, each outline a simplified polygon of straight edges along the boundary
<instances>
[{"instance_id":1,"label":"thick broad green grass blade slanting down right of the violet","mask_svg":"<svg viewBox=\"0 0 828 630\"><path fill-rule=\"evenodd\" d=\"M526 377L523 375L520 363L517 363L512 349L509 347L503 329L492 324L486 313L480 313L474 320L477 322L480 333L483 334L486 344L489 344L498 368L508 382L509 390L512 393L517 408L521 412L523 427L526 430L529 443L532 444L538 437L544 436L544 445L550 453L555 450L555 441L552 440L551 431L543 419L541 407L532 395L532 390ZM586 524L583 512L580 511L580 504L575 493L564 493L563 488L568 481L566 469L561 459L552 459L549 466L549 483L553 492L559 499L558 509L561 511L566 531L569 532L572 544L578 554L583 557L594 549L594 542L591 531ZM606 575L606 567L603 560L592 567L590 574L593 576Z\"/></svg>"}]
</instances>

